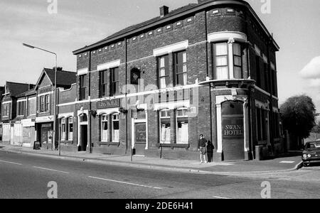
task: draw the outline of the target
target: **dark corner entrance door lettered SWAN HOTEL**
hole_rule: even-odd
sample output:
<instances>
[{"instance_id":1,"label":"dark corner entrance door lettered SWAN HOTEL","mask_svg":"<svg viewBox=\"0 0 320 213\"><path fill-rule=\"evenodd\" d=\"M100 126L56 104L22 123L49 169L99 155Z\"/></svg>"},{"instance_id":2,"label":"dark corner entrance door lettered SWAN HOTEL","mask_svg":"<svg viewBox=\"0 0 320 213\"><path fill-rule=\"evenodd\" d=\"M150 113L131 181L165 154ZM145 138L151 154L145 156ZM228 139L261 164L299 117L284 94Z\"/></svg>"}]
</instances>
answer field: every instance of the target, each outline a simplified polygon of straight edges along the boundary
<instances>
[{"instance_id":1,"label":"dark corner entrance door lettered SWAN HOTEL","mask_svg":"<svg viewBox=\"0 0 320 213\"><path fill-rule=\"evenodd\" d=\"M222 104L223 159L245 160L243 102Z\"/></svg>"}]
</instances>

